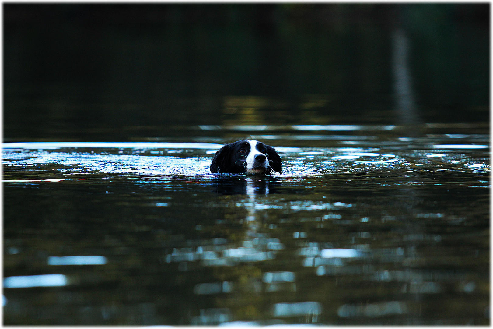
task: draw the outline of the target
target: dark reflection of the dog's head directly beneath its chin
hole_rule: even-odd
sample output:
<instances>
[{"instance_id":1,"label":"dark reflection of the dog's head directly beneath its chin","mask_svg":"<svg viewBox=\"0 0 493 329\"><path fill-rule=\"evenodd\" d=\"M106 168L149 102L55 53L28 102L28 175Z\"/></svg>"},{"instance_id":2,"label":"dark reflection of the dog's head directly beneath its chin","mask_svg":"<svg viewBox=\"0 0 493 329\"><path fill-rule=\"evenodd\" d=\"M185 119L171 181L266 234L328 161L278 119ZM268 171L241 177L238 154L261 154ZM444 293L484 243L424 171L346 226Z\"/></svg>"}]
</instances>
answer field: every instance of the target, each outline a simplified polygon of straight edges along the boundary
<instances>
[{"instance_id":1,"label":"dark reflection of the dog's head directly beneath its chin","mask_svg":"<svg viewBox=\"0 0 493 329\"><path fill-rule=\"evenodd\" d=\"M281 186L279 178L270 176L249 177L249 176L229 176L215 177L212 180L214 192L221 195L246 194L250 197L254 195L268 195L279 193L277 187Z\"/></svg>"}]
</instances>

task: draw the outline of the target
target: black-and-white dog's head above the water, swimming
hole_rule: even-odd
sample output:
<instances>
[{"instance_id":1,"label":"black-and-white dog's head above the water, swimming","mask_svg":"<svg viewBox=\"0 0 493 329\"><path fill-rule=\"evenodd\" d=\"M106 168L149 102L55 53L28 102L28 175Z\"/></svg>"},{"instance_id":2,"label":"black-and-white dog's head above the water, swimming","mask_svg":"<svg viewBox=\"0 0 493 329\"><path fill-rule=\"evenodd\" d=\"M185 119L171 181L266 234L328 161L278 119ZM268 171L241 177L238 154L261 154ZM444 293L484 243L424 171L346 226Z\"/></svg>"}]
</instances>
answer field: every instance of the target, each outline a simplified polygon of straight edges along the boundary
<instances>
[{"instance_id":1,"label":"black-and-white dog's head above the water, swimming","mask_svg":"<svg viewBox=\"0 0 493 329\"><path fill-rule=\"evenodd\" d=\"M282 174L282 160L276 149L259 141L242 140L215 152L211 173Z\"/></svg>"}]
</instances>

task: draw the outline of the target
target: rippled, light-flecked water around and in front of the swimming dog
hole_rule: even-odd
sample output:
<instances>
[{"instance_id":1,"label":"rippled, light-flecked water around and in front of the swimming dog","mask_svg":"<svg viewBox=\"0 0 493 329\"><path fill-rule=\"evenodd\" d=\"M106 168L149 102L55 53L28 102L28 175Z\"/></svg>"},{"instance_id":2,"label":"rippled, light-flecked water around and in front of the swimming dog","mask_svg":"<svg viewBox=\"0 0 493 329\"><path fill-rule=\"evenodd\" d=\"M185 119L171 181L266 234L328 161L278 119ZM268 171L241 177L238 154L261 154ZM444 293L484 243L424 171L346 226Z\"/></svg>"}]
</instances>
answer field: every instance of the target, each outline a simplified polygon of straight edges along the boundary
<instances>
[{"instance_id":1,"label":"rippled, light-flecked water around and in front of the swimming dog","mask_svg":"<svg viewBox=\"0 0 493 329\"><path fill-rule=\"evenodd\" d=\"M4 144L4 314L486 324L489 153L420 143L278 146L285 174L270 177L211 174L218 144ZM13 289L47 287L31 281L50 265L70 290Z\"/></svg>"}]
</instances>

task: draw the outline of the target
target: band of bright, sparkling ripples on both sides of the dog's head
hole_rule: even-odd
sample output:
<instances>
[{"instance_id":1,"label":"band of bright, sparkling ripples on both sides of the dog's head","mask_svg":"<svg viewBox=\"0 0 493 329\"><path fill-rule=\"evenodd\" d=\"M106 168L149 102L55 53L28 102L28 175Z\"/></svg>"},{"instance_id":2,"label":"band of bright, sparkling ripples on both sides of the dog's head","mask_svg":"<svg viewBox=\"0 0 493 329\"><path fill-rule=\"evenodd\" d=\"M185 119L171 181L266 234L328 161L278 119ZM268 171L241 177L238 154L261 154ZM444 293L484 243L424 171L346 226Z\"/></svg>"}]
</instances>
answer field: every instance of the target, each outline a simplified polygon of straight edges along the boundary
<instances>
[{"instance_id":1,"label":"band of bright, sparkling ripples on both sides of the dog's head","mask_svg":"<svg viewBox=\"0 0 493 329\"><path fill-rule=\"evenodd\" d=\"M7 167L42 167L64 174L114 173L149 176L211 175L211 158L220 144L213 143L4 143ZM346 171L430 170L488 171L482 145L435 145L433 150L399 149L392 153L375 147L276 146L284 160L284 175L313 175ZM450 148L448 152L445 149ZM464 151L458 151L464 149ZM467 151L466 151L467 149ZM469 150L470 149L470 150ZM476 153L472 150L476 149ZM479 152L479 153L478 153ZM478 158L479 154L479 158ZM474 157L473 157L474 156ZM389 159L390 158L390 159Z\"/></svg>"}]
</instances>

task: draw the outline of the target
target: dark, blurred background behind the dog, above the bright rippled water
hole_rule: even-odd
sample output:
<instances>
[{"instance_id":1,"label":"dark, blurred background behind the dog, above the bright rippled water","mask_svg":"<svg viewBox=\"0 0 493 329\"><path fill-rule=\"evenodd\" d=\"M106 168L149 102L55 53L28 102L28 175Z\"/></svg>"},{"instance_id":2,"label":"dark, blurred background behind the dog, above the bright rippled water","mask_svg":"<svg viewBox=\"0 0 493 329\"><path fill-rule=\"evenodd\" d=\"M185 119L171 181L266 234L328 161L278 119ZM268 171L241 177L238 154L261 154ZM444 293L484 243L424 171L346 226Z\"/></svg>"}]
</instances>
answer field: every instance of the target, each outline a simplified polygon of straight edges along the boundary
<instances>
[{"instance_id":1,"label":"dark, blurred background behind the dog, above the bright rippled water","mask_svg":"<svg viewBox=\"0 0 493 329\"><path fill-rule=\"evenodd\" d=\"M4 141L395 123L395 29L423 122L488 121L489 6L4 3Z\"/></svg>"}]
</instances>

